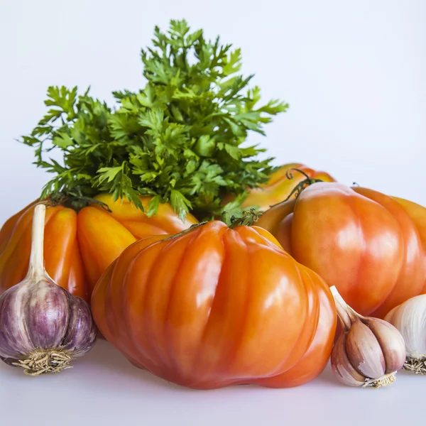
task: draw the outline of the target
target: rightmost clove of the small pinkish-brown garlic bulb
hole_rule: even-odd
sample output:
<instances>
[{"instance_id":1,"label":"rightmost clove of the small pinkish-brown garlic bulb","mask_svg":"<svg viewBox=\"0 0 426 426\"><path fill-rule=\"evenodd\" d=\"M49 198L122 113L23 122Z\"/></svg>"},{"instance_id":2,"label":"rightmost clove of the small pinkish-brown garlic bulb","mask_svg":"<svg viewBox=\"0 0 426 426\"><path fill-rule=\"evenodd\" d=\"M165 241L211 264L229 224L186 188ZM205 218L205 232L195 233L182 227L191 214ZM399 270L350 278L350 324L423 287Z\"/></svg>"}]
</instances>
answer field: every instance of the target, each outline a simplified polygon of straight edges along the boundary
<instances>
[{"instance_id":1,"label":"rightmost clove of the small pinkish-brown garlic bulb","mask_svg":"<svg viewBox=\"0 0 426 426\"><path fill-rule=\"evenodd\" d=\"M403 368L405 361L405 342L403 335L395 332L395 327L378 318L365 318L365 324L371 329L381 346L386 364L385 373Z\"/></svg>"}]
</instances>

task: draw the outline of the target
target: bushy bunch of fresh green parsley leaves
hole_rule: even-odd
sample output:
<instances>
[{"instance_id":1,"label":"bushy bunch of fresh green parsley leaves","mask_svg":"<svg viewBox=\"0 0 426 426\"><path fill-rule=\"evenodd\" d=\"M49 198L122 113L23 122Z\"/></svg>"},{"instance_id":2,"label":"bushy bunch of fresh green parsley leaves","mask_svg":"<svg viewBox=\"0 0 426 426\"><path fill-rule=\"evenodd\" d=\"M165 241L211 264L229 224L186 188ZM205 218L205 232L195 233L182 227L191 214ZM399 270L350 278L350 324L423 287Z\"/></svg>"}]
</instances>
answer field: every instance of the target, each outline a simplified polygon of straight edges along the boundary
<instances>
[{"instance_id":1,"label":"bushy bunch of fresh green parsley leaves","mask_svg":"<svg viewBox=\"0 0 426 426\"><path fill-rule=\"evenodd\" d=\"M99 192L127 197L148 215L170 202L181 218L219 214L226 194L241 202L247 187L266 182L271 158L244 146L249 131L288 108L278 100L258 106L253 77L239 74L240 49L190 33L186 21L171 21L167 33L155 28L153 46L142 50L146 86L136 93L113 92L117 106L77 87L49 87L50 107L23 143L35 148L35 164L54 173L41 197L80 202ZM47 143L47 147L46 144ZM62 164L45 152L62 151Z\"/></svg>"}]
</instances>

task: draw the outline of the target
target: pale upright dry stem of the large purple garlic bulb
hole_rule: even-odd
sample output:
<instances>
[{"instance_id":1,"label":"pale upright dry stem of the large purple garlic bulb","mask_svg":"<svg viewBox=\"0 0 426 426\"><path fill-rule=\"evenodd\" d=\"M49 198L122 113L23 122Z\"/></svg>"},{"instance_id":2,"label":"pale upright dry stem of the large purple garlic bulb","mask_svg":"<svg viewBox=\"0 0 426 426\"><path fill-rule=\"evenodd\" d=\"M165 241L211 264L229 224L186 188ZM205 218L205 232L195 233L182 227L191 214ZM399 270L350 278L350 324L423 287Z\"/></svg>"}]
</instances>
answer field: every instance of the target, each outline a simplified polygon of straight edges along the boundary
<instances>
[{"instance_id":1,"label":"pale upright dry stem of the large purple garlic bulb","mask_svg":"<svg viewBox=\"0 0 426 426\"><path fill-rule=\"evenodd\" d=\"M33 213L33 228L31 236L31 254L30 264L28 266L27 278L33 277L41 279L45 277L44 268L44 229L45 229L45 212L44 204L35 206Z\"/></svg>"}]
</instances>

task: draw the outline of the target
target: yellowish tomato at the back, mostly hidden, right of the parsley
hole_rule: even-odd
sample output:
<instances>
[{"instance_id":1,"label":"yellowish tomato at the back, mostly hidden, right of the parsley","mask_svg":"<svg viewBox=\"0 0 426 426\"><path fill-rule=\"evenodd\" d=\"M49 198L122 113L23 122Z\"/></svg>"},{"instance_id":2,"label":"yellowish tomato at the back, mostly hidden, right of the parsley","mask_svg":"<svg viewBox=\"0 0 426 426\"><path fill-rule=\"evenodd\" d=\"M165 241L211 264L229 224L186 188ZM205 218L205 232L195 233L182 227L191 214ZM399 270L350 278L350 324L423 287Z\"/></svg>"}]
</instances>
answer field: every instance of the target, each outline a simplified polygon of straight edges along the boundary
<instances>
[{"instance_id":1,"label":"yellowish tomato at the back, mostly hidden, right of the parsley","mask_svg":"<svg viewBox=\"0 0 426 426\"><path fill-rule=\"evenodd\" d=\"M326 172L313 170L300 163L285 164L272 173L266 184L249 190L249 196L241 204L241 207L256 205L261 212L264 212L274 204L287 200L288 197L289 200L295 198L295 194L291 196L290 194L297 184L306 179L306 176L292 169L302 170L311 179L334 182L334 178ZM288 173L290 173L290 179L287 176Z\"/></svg>"}]
</instances>

